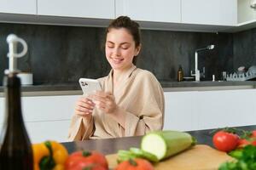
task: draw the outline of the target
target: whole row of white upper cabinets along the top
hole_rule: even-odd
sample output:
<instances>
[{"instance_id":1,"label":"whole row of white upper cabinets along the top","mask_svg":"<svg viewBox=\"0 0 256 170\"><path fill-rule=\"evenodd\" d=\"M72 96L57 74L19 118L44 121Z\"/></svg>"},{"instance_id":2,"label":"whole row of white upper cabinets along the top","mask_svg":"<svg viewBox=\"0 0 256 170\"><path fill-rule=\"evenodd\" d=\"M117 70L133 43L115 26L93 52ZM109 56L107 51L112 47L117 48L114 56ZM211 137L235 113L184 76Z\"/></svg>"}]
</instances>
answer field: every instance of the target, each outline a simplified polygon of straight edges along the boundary
<instances>
[{"instance_id":1,"label":"whole row of white upper cabinets along the top","mask_svg":"<svg viewBox=\"0 0 256 170\"><path fill-rule=\"evenodd\" d=\"M109 20L128 15L141 28L154 30L234 32L254 26L246 27L246 22L237 25L237 0L0 0L0 3L0 20L9 23L105 27Z\"/></svg>"}]
</instances>

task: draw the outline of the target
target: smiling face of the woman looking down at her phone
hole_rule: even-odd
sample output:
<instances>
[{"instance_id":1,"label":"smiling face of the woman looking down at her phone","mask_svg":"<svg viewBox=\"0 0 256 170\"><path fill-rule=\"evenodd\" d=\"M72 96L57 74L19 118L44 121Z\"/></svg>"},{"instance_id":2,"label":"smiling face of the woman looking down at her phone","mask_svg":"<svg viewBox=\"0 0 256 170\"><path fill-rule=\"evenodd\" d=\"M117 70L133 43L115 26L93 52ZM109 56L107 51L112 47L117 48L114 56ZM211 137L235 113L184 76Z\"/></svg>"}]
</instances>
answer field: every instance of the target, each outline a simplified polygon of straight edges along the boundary
<instances>
[{"instance_id":1,"label":"smiling face of the woman looking down at her phone","mask_svg":"<svg viewBox=\"0 0 256 170\"><path fill-rule=\"evenodd\" d=\"M125 70L132 65L132 59L140 51L135 47L133 37L125 28L110 29L107 34L105 53L113 70Z\"/></svg>"}]
</instances>

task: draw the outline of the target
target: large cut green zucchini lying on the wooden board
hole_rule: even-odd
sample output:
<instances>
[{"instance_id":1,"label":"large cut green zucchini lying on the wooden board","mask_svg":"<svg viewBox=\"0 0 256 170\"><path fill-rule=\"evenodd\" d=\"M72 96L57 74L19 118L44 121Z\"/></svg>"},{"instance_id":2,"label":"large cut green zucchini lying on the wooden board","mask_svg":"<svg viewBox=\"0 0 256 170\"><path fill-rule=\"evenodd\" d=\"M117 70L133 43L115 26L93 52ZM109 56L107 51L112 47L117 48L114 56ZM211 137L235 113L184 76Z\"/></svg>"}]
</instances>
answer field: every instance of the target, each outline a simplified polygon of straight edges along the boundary
<instances>
[{"instance_id":1,"label":"large cut green zucchini lying on the wooden board","mask_svg":"<svg viewBox=\"0 0 256 170\"><path fill-rule=\"evenodd\" d=\"M157 157L160 161L195 145L189 133L177 131L154 131L143 136L141 149Z\"/></svg>"}]
</instances>

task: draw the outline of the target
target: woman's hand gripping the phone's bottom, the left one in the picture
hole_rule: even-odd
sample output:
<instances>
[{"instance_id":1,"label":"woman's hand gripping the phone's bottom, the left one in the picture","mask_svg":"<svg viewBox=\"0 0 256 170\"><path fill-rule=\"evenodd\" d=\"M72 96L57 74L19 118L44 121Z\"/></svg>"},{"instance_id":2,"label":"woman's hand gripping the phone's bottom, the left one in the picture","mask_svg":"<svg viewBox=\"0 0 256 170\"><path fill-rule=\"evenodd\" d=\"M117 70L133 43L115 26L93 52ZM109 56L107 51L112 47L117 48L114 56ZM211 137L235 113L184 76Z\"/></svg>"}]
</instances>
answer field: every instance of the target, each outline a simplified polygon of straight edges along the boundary
<instances>
[{"instance_id":1,"label":"woman's hand gripping the phone's bottom, the left one in the picture","mask_svg":"<svg viewBox=\"0 0 256 170\"><path fill-rule=\"evenodd\" d=\"M80 97L75 105L75 114L79 116L91 116L95 104L91 99Z\"/></svg>"}]
</instances>

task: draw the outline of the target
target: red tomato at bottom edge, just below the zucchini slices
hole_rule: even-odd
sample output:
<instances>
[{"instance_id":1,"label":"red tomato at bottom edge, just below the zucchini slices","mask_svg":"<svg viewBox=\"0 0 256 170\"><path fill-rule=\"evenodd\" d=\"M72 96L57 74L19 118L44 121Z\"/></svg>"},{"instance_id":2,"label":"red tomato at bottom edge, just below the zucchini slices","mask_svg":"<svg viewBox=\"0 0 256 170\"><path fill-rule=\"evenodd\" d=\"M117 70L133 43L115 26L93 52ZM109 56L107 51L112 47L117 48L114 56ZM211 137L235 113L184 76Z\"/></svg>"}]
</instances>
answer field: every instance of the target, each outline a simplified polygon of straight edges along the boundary
<instances>
[{"instance_id":1,"label":"red tomato at bottom edge, just below the zucchini slices","mask_svg":"<svg viewBox=\"0 0 256 170\"><path fill-rule=\"evenodd\" d=\"M115 170L153 170L153 165L142 158L130 159L128 161L122 161L119 163Z\"/></svg>"}]
</instances>

